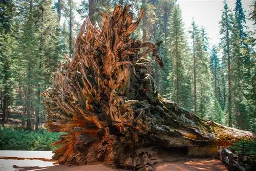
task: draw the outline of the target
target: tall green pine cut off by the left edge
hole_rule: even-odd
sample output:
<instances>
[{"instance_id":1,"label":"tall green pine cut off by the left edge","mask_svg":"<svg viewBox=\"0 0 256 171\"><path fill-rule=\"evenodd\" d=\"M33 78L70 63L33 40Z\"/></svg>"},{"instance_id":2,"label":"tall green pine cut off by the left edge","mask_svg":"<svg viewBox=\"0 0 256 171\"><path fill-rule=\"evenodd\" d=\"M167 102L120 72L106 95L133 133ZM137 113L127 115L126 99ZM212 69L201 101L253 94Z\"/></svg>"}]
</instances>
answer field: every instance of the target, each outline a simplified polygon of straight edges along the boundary
<instances>
[{"instance_id":1,"label":"tall green pine cut off by the left edge","mask_svg":"<svg viewBox=\"0 0 256 171\"><path fill-rule=\"evenodd\" d=\"M17 41L14 34L15 5L12 1L2 1L0 4L0 78L1 78L1 108L2 124L8 121L8 106L11 104L12 86L11 67Z\"/></svg>"}]
</instances>

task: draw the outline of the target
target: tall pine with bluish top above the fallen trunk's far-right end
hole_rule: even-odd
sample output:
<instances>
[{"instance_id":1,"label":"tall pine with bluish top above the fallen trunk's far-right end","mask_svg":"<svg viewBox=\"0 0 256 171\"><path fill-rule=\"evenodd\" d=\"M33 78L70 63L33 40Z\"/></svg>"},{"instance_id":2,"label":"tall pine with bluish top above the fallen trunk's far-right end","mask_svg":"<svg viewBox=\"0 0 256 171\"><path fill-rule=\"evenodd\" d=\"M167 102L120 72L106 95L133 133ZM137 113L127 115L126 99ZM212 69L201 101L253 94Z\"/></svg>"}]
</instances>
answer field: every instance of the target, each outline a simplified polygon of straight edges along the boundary
<instances>
[{"instance_id":1,"label":"tall pine with bluish top above the fallen trunk's far-right end","mask_svg":"<svg viewBox=\"0 0 256 171\"><path fill-rule=\"evenodd\" d=\"M251 113L250 107L247 106L251 101L248 92L252 86L251 78L254 69L254 62L251 59L254 48L248 44L250 36L244 31L245 14L241 1L236 2L235 22L232 29L232 92L236 96L233 97L233 113L236 116L236 126L242 130L249 130ZM252 112L253 113L253 112ZM253 118L253 116L252 116Z\"/></svg>"}]
</instances>

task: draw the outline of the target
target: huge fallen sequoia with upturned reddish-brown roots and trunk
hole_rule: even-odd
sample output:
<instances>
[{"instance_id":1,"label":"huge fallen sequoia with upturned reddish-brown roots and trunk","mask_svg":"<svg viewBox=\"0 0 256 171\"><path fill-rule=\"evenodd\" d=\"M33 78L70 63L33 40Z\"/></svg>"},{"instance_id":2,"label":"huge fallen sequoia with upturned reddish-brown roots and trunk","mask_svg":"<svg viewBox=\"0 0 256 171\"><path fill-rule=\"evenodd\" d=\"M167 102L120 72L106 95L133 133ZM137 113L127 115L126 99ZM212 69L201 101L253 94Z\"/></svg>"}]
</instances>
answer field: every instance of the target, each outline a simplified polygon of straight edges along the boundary
<instances>
[{"instance_id":1,"label":"huge fallen sequoia with upturned reddish-brown roots and trunk","mask_svg":"<svg viewBox=\"0 0 256 171\"><path fill-rule=\"evenodd\" d=\"M130 37L143 11L133 22L129 8L119 5L112 15L102 14L101 29L86 19L74 58L66 56L54 87L43 93L49 130L67 133L53 143L60 145L53 159L154 170L161 150L185 147L190 155L204 156L212 147L253 139L250 132L202 120L155 91L153 65L143 56L152 52L163 67L161 41Z\"/></svg>"}]
</instances>

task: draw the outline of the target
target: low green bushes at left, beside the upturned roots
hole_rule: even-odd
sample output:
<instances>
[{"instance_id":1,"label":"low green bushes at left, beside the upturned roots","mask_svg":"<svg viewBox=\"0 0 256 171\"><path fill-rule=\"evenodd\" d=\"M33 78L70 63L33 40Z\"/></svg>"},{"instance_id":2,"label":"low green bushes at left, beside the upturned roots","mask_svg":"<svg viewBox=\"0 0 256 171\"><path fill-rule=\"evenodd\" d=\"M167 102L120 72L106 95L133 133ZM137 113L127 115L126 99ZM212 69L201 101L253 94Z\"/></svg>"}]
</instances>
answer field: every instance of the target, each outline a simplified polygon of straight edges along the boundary
<instances>
[{"instance_id":1,"label":"low green bushes at left, beside the upturned roots","mask_svg":"<svg viewBox=\"0 0 256 171\"><path fill-rule=\"evenodd\" d=\"M53 151L56 146L51 143L57 141L63 133L51 133L45 129L38 131L16 130L8 127L0 128L1 150L31 150Z\"/></svg>"}]
</instances>

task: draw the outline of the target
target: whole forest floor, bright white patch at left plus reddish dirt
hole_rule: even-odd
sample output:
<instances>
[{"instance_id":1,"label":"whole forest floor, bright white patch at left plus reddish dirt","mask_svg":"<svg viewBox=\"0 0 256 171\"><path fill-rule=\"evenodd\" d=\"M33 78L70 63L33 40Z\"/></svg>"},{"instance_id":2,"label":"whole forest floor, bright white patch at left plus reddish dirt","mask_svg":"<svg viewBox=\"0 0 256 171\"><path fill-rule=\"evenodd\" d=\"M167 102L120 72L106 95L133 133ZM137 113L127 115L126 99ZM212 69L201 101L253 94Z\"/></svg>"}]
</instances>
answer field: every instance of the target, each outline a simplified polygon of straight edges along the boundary
<instances>
[{"instance_id":1,"label":"whole forest floor, bright white patch at left plus reddish dirt","mask_svg":"<svg viewBox=\"0 0 256 171\"><path fill-rule=\"evenodd\" d=\"M44 170L44 171L124 171L115 169L104 164L92 164L82 166L54 165L51 161L28 160L25 158L45 158L50 159L51 152L35 151L0 151L1 171L23 171L23 170ZM8 157L18 157L19 159L7 159ZM6 159L5 159L6 158ZM20 160L23 159L23 160ZM186 158L179 157L168 162L155 164L156 171L176 171L176 170L211 170L224 171L226 166L220 160L214 158Z\"/></svg>"}]
</instances>

